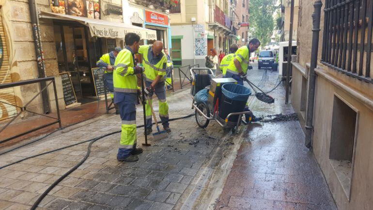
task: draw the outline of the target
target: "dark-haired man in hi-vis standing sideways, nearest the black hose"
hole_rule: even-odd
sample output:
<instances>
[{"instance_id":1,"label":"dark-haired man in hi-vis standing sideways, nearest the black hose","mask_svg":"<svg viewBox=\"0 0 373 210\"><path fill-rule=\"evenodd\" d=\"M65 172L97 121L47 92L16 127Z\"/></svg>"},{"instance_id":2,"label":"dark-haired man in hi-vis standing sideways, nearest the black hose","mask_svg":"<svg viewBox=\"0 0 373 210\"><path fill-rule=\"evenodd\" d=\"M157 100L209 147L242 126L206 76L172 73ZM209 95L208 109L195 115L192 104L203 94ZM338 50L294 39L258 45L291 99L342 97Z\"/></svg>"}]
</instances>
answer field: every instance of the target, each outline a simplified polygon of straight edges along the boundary
<instances>
[{"instance_id":1,"label":"dark-haired man in hi-vis standing sideways, nearest the black hose","mask_svg":"<svg viewBox=\"0 0 373 210\"><path fill-rule=\"evenodd\" d=\"M134 54L140 48L140 36L136 33L127 33L124 37L125 48L119 52L115 59L113 73L114 103L118 105L122 119L122 133L119 144L118 161L135 162L142 153L141 148L136 148L136 104L139 87L137 76L143 68L134 65Z\"/></svg>"}]
</instances>

